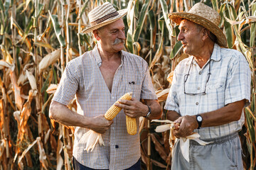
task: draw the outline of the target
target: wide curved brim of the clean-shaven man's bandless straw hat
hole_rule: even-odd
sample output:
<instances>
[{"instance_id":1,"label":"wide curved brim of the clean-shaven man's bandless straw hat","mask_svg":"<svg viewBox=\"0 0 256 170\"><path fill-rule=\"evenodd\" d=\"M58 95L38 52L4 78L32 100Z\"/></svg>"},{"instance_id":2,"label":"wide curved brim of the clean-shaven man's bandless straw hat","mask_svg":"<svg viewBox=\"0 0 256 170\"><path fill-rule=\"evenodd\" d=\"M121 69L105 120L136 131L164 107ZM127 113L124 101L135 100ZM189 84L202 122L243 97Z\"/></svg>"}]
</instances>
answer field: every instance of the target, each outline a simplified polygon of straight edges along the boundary
<instances>
[{"instance_id":1,"label":"wide curved brim of the clean-shaven man's bandless straw hat","mask_svg":"<svg viewBox=\"0 0 256 170\"><path fill-rule=\"evenodd\" d=\"M220 45L220 47L227 47L227 39L225 38L225 35L218 26L216 26L211 21L208 21L208 19L203 18L201 16L195 15L193 13L170 13L169 18L174 21L177 25L179 25L183 18L188 19L189 21L192 21L194 23L197 23L206 29L210 30L211 33L213 33L217 37L217 43Z\"/></svg>"}]
</instances>

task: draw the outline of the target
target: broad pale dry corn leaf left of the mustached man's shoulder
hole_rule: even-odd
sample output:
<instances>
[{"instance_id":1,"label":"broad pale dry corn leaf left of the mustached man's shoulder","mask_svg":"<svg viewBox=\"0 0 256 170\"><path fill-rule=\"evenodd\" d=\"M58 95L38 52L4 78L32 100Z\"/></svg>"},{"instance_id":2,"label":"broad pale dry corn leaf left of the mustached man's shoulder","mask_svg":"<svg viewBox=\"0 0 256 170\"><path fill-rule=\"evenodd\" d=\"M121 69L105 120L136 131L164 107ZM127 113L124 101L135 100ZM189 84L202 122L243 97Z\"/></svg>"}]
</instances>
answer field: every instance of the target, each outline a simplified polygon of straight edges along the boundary
<instances>
[{"instance_id":1,"label":"broad pale dry corn leaf left of the mustached man's shoulder","mask_svg":"<svg viewBox=\"0 0 256 170\"><path fill-rule=\"evenodd\" d=\"M50 54L43 57L41 62L39 63L39 73L41 74L43 70L47 69L50 64L55 63L60 58L60 49L51 52Z\"/></svg>"}]
</instances>

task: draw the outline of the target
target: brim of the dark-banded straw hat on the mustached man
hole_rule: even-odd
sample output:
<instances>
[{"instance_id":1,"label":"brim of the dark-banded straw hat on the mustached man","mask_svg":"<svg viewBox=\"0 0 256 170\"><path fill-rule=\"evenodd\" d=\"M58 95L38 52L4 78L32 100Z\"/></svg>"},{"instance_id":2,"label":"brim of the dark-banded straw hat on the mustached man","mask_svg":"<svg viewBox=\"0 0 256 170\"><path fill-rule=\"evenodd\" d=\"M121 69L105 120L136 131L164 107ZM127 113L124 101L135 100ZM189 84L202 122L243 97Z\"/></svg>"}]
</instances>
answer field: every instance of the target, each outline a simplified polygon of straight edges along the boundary
<instances>
[{"instance_id":1,"label":"brim of the dark-banded straw hat on the mustached man","mask_svg":"<svg viewBox=\"0 0 256 170\"><path fill-rule=\"evenodd\" d=\"M106 21L96 24L95 26L90 26L89 28L82 30L82 33L90 33L92 30L97 30L97 28L106 26L107 24L110 24L110 23L114 23L114 21L117 21L117 20L119 20L119 18L122 18L123 16L125 16L127 14L127 11L128 11L127 9L119 10L119 11L117 11L119 13L117 16L107 19Z\"/></svg>"}]
</instances>

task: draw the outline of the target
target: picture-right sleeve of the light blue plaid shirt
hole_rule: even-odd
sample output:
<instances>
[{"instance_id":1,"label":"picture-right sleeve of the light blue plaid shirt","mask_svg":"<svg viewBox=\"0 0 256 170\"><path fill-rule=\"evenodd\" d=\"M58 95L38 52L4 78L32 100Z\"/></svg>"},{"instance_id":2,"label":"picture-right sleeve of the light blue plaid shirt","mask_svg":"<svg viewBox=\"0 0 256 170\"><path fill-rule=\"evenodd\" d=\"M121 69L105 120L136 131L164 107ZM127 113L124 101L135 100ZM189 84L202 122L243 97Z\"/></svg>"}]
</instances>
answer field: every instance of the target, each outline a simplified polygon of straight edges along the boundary
<instances>
[{"instance_id":1,"label":"picture-right sleeve of the light blue plaid shirt","mask_svg":"<svg viewBox=\"0 0 256 170\"><path fill-rule=\"evenodd\" d=\"M246 100L245 107L250 104L251 72L249 64L240 52L235 52L233 62L230 62L225 89L225 106L235 101Z\"/></svg>"}]
</instances>

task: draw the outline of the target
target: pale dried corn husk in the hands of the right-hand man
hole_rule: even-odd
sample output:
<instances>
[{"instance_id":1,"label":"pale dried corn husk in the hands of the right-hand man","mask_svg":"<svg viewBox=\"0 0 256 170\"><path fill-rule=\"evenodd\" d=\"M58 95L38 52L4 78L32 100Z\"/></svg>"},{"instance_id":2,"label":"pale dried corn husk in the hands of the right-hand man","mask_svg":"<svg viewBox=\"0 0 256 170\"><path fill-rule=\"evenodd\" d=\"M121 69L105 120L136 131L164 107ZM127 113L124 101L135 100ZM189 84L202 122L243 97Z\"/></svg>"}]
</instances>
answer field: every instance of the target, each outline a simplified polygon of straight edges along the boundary
<instances>
[{"instance_id":1,"label":"pale dried corn husk in the hands of the right-hand man","mask_svg":"<svg viewBox=\"0 0 256 170\"><path fill-rule=\"evenodd\" d=\"M169 144L171 146L171 137L174 138L172 132L174 130L174 122L171 120L151 120L151 122L160 122L160 123L169 123L166 125L159 125L156 127L156 132L165 132L166 130L170 130L170 138L169 138ZM208 145L211 142L204 142L203 140L199 139L200 135L197 132L194 132L192 135L188 135L187 137L181 137L180 138L180 147L181 147L181 153L183 154L183 157L186 159L187 162L189 162L189 140L195 140L200 145Z\"/></svg>"}]
</instances>

